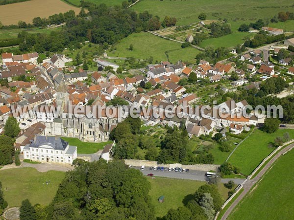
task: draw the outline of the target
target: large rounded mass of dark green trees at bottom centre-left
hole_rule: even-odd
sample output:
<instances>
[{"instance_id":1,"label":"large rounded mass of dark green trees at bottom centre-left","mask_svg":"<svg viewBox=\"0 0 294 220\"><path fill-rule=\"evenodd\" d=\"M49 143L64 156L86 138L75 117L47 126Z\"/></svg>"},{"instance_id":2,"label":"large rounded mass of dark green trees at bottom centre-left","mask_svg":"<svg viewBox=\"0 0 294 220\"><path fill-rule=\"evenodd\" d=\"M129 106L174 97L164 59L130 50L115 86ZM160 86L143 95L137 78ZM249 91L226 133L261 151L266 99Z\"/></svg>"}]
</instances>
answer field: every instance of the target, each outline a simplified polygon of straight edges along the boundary
<instances>
[{"instance_id":1,"label":"large rounded mass of dark green trees at bottom centre-left","mask_svg":"<svg viewBox=\"0 0 294 220\"><path fill-rule=\"evenodd\" d=\"M75 162L78 166L66 173L49 206L22 202L21 220L155 219L151 186L139 170L119 160Z\"/></svg>"}]
</instances>

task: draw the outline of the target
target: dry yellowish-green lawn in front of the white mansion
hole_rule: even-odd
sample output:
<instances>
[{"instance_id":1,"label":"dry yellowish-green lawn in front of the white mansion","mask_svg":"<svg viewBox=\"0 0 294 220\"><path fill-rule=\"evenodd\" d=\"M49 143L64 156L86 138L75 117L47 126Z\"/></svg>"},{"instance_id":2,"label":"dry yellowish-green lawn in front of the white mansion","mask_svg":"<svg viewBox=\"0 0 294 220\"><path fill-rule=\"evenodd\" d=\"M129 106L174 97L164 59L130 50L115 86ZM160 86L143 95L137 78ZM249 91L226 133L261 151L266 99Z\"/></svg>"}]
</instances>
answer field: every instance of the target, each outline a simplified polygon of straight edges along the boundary
<instances>
[{"instance_id":1,"label":"dry yellowish-green lawn in front of the white mansion","mask_svg":"<svg viewBox=\"0 0 294 220\"><path fill-rule=\"evenodd\" d=\"M20 206L26 198L34 205L48 205L58 189L65 173L49 171L38 172L34 168L17 168L0 171L0 181L4 199L10 207ZM47 185L46 180L50 180Z\"/></svg>"}]
</instances>

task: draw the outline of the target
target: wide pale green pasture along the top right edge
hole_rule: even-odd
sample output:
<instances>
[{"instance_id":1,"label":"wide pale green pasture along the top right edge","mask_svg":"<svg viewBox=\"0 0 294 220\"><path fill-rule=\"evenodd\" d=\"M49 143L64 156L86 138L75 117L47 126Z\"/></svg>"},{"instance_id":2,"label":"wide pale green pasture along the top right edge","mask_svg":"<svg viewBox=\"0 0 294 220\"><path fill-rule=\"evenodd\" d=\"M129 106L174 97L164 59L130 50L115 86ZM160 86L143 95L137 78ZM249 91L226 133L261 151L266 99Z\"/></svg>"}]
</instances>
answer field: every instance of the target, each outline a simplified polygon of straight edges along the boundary
<instances>
[{"instance_id":1,"label":"wide pale green pasture along the top right edge","mask_svg":"<svg viewBox=\"0 0 294 220\"><path fill-rule=\"evenodd\" d=\"M236 18L255 21L259 18L269 18L279 11L294 12L292 0L142 0L132 8L137 12L148 11L161 20L165 16L174 16L177 25L198 22L198 15L206 13L207 19Z\"/></svg>"}]
</instances>

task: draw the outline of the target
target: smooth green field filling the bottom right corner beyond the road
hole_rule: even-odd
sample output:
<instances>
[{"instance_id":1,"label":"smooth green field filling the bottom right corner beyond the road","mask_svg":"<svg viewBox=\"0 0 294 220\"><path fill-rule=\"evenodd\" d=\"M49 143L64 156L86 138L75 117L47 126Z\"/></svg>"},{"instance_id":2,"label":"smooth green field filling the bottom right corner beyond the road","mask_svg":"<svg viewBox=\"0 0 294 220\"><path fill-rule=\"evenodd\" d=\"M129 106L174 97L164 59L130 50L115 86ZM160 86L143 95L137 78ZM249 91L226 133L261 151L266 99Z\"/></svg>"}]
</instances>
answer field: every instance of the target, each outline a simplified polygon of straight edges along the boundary
<instances>
[{"instance_id":1,"label":"smooth green field filling the bottom right corner beyond the road","mask_svg":"<svg viewBox=\"0 0 294 220\"><path fill-rule=\"evenodd\" d=\"M281 156L229 220L290 220L294 216L294 151Z\"/></svg>"}]
</instances>

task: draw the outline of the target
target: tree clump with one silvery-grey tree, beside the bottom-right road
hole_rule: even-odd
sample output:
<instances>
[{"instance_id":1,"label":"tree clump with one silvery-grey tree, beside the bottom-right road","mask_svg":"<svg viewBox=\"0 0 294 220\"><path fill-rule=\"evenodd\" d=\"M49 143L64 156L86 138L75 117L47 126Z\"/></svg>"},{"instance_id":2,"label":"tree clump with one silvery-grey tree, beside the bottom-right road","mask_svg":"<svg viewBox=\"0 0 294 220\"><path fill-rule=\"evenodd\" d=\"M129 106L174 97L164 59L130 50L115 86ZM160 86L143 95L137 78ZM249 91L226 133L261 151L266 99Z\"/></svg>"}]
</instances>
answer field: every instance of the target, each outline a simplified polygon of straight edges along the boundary
<instances>
[{"instance_id":1,"label":"tree clump with one silvery-grey tree, beside the bottom-right road","mask_svg":"<svg viewBox=\"0 0 294 220\"><path fill-rule=\"evenodd\" d=\"M192 196L192 195L191 195ZM212 220L221 209L223 199L217 185L200 186L184 206L170 209L164 220Z\"/></svg>"}]
</instances>

